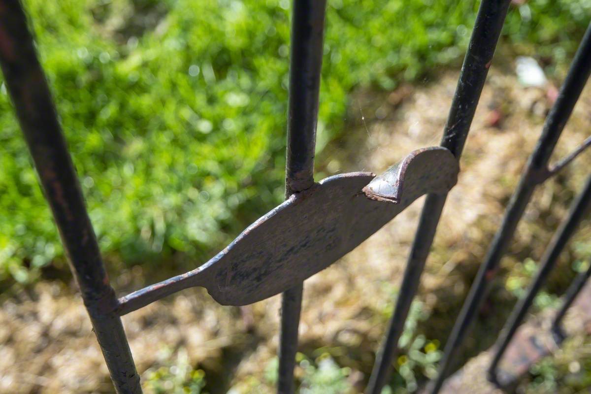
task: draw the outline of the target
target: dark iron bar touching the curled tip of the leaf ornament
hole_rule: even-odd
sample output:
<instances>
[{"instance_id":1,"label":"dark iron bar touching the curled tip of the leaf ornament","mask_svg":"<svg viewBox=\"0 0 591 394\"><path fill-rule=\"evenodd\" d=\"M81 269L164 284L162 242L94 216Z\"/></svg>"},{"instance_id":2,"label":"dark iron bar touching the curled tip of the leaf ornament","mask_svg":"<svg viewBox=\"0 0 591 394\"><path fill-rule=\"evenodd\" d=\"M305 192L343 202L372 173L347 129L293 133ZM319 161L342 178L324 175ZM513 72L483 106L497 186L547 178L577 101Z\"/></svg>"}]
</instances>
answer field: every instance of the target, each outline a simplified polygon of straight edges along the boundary
<instances>
[{"instance_id":1,"label":"dark iron bar touching the curled tip of the leaf ornament","mask_svg":"<svg viewBox=\"0 0 591 394\"><path fill-rule=\"evenodd\" d=\"M480 4L441 140L441 146L449 149L457 159L462 155L508 7L509 0L483 0ZM425 201L397 303L369 378L366 389L368 394L381 393L389 378L392 360L395 359L398 350L398 340L404 329L411 302L417 293L420 276L433 243L446 197L430 194Z\"/></svg>"}]
</instances>

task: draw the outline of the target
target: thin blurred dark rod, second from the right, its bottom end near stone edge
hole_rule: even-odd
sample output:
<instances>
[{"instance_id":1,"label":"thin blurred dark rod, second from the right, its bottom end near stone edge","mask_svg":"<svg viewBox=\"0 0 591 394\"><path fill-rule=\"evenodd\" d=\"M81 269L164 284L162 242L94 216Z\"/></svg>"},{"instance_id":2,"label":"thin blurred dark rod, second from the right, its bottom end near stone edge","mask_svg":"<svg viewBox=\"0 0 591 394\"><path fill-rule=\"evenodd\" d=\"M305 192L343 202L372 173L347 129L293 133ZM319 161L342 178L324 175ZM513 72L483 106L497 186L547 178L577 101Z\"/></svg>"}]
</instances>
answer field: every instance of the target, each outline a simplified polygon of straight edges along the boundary
<instances>
[{"instance_id":1,"label":"thin blurred dark rod, second from the right, its bottom end near stone edge","mask_svg":"<svg viewBox=\"0 0 591 394\"><path fill-rule=\"evenodd\" d=\"M556 266L556 262L558 261L560 253L563 252L567 242L569 242L569 239L573 236L574 232L576 232L577 227L579 227L583 217L589 211L590 206L591 177L587 179L583 191L579 194L579 196L577 196L573 204L571 204L569 215L560 224L560 227L551 240L550 245L548 245L548 248L544 252L544 256L540 263L540 269L538 269L534 280L527 289L525 297L520 299L517 305L515 305L513 311L511 312L511 316L505 323L505 327L503 327L501 334L496 340L494 347L495 353L493 354L491 365L488 369L488 377L492 382L498 382L496 379L496 369L503 357L503 354L505 353L505 350L517 332L519 325L521 325L522 321L524 320L527 311L534 302L535 296L544 285L554 266Z\"/></svg>"}]
</instances>

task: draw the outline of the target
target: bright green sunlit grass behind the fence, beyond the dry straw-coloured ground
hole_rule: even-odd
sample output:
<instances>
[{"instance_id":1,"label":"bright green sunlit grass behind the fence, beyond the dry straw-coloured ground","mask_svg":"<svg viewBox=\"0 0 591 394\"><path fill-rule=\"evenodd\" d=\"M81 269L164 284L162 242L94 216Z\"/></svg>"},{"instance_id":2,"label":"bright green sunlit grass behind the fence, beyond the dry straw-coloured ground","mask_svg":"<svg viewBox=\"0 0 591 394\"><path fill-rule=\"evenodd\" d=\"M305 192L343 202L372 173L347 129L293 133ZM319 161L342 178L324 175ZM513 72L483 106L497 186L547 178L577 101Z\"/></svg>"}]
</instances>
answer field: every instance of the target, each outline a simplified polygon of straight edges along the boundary
<instances>
[{"instance_id":1,"label":"bright green sunlit grass behind the fence, beyond the dry straw-coloured ground","mask_svg":"<svg viewBox=\"0 0 591 394\"><path fill-rule=\"evenodd\" d=\"M110 262L201 262L281 201L288 0L24 3ZM343 132L353 89L459 64L478 8L328 3L319 151ZM511 9L503 40L551 70L590 17L589 0L531 0ZM63 250L4 86L0 142L0 279L27 282Z\"/></svg>"}]
</instances>

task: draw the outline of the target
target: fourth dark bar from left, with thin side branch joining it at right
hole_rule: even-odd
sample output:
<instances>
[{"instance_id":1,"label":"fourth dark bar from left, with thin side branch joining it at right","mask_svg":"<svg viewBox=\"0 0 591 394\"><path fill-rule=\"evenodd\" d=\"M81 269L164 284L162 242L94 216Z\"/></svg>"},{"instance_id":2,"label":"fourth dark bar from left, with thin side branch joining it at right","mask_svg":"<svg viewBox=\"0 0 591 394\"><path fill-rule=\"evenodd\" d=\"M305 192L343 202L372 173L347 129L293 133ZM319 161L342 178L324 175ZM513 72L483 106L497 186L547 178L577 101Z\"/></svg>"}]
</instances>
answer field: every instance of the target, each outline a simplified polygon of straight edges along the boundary
<instances>
[{"instance_id":1,"label":"fourth dark bar from left, with thin side branch joining it at right","mask_svg":"<svg viewBox=\"0 0 591 394\"><path fill-rule=\"evenodd\" d=\"M480 265L475 282L470 288L466 302L462 306L462 311L460 311L460 315L453 327L452 334L447 340L443 358L439 364L437 378L430 386L432 394L439 392L444 379L450 372L454 357L466 337L470 323L472 323L480 309L480 305L482 305L489 284L495 277L499 262L515 233L515 228L530 201L535 186L547 178L548 160L556 146L558 137L564 129L564 125L566 125L573 111L574 105L579 99L590 71L591 27L587 28L585 32L558 98L550 113L548 113L540 139L538 139L534 152L528 159L525 170L521 175L517 189L509 201L501 227L499 227L492 240L485 261Z\"/></svg>"}]
</instances>

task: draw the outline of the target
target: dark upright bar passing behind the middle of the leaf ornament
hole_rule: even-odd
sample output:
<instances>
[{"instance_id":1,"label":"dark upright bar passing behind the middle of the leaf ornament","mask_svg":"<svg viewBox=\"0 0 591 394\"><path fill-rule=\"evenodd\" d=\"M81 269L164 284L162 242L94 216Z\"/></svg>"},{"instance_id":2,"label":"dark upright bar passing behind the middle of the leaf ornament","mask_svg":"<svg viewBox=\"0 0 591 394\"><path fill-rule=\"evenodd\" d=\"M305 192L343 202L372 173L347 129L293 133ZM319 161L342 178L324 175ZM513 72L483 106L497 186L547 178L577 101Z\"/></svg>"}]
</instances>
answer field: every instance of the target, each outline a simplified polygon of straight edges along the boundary
<instances>
[{"instance_id":1,"label":"dark upright bar passing behind the middle of the leaf ornament","mask_svg":"<svg viewBox=\"0 0 591 394\"><path fill-rule=\"evenodd\" d=\"M326 0L294 0L291 21L290 98L285 197L314 184L314 150L322 69ZM293 392L298 325L304 286L282 294L277 391Z\"/></svg>"}]
</instances>

